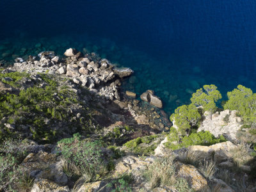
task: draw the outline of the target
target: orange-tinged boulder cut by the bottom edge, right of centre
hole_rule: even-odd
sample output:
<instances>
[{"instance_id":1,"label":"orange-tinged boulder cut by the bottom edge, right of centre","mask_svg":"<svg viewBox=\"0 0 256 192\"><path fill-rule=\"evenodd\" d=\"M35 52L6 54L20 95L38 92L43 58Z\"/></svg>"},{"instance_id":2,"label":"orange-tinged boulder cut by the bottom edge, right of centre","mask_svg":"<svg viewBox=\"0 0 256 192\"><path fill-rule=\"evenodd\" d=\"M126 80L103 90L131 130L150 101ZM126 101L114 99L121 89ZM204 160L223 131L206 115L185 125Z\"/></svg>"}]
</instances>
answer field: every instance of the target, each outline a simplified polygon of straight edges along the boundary
<instances>
[{"instance_id":1,"label":"orange-tinged boulder cut by the bottom edge, right of centre","mask_svg":"<svg viewBox=\"0 0 256 192\"><path fill-rule=\"evenodd\" d=\"M191 164L182 164L178 175L188 180L189 185L195 191L210 191L207 180Z\"/></svg>"}]
</instances>

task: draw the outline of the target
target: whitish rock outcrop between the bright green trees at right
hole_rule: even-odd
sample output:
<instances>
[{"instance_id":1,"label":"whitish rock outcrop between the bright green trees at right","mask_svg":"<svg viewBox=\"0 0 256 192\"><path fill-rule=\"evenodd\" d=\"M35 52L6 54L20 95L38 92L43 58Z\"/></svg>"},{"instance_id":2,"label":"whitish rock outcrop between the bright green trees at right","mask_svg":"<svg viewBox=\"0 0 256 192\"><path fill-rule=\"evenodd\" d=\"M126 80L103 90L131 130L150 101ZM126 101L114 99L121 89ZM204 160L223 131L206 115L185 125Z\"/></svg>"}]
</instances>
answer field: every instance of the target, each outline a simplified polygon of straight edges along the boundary
<instances>
[{"instance_id":1,"label":"whitish rock outcrop between the bright green trees at right","mask_svg":"<svg viewBox=\"0 0 256 192\"><path fill-rule=\"evenodd\" d=\"M228 140L236 140L236 132L242 126L241 117L236 116L236 113L227 109L211 115L206 111L205 119L197 131L209 131L217 138L222 134Z\"/></svg>"}]
</instances>

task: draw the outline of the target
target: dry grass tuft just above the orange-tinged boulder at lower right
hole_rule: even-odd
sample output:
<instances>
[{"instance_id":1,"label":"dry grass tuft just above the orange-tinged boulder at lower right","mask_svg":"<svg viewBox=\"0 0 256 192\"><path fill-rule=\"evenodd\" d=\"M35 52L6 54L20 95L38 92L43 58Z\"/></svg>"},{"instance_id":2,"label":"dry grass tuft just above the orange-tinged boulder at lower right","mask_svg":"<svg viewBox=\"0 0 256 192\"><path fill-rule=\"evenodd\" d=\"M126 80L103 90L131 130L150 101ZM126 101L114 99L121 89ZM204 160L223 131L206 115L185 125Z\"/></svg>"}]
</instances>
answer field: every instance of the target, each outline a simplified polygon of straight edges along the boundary
<instances>
[{"instance_id":1,"label":"dry grass tuft just above the orange-tinged boulder at lower right","mask_svg":"<svg viewBox=\"0 0 256 192\"><path fill-rule=\"evenodd\" d=\"M200 161L202 161L203 157L204 156L202 152L187 150L186 152L181 152L177 158L182 163L193 164L197 166L200 163Z\"/></svg>"}]
</instances>

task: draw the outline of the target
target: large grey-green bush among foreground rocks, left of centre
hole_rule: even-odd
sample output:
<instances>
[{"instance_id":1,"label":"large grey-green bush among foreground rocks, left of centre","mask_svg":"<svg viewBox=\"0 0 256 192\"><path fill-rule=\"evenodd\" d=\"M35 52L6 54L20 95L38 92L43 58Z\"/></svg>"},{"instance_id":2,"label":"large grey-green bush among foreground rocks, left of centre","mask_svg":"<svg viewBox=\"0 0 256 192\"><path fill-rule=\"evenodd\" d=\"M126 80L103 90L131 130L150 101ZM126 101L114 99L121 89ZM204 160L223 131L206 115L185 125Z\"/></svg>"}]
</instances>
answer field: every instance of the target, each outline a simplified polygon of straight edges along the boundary
<instances>
[{"instance_id":1,"label":"large grey-green bush among foreground rocks, left of centre","mask_svg":"<svg viewBox=\"0 0 256 192\"><path fill-rule=\"evenodd\" d=\"M58 146L63 158L75 164L86 180L97 180L106 173L107 163L99 141L86 142L75 135L74 138L59 141Z\"/></svg>"}]
</instances>

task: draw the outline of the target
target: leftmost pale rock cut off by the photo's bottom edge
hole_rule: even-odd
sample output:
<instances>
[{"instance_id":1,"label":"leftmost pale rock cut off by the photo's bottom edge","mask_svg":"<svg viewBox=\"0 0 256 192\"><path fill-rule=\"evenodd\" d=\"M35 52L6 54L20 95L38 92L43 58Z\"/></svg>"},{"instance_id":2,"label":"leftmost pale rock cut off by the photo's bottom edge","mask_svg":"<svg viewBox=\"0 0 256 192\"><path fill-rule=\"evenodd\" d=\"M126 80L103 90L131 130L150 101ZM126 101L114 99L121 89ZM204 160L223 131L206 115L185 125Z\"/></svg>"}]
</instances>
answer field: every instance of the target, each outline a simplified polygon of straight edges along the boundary
<instances>
[{"instance_id":1,"label":"leftmost pale rock cut off by the photo's bottom edge","mask_svg":"<svg viewBox=\"0 0 256 192\"><path fill-rule=\"evenodd\" d=\"M68 192L68 186L59 186L47 179L38 180L34 183L31 192Z\"/></svg>"}]
</instances>

